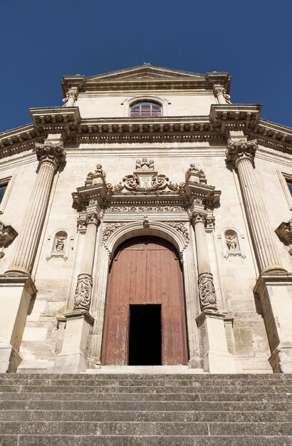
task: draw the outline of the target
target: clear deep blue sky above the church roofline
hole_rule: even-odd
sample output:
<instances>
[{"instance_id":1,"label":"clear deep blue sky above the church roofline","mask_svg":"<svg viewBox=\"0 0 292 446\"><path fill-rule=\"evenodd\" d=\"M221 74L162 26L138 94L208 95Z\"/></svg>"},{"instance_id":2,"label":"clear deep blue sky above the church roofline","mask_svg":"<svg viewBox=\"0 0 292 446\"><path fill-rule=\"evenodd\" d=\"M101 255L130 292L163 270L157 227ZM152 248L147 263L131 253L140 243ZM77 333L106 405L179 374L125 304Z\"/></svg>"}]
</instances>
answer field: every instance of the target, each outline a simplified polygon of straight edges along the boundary
<instances>
[{"instance_id":1,"label":"clear deep blue sky above the church roofline","mask_svg":"<svg viewBox=\"0 0 292 446\"><path fill-rule=\"evenodd\" d=\"M0 131L61 105L63 75L147 62L229 71L233 103L292 127L291 1L1 0Z\"/></svg>"}]
</instances>

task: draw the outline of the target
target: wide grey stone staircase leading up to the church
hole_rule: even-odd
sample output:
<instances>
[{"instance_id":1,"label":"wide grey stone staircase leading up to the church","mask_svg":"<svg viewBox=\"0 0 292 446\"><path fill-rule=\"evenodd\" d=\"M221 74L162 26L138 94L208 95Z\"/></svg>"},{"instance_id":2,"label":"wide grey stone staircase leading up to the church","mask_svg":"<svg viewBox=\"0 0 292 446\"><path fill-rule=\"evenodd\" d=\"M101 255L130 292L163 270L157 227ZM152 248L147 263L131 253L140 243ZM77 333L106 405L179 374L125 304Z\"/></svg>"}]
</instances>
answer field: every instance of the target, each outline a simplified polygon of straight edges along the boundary
<instances>
[{"instance_id":1,"label":"wide grey stone staircase leading up to the church","mask_svg":"<svg viewBox=\"0 0 292 446\"><path fill-rule=\"evenodd\" d=\"M292 375L0 375L1 446L290 446Z\"/></svg>"}]
</instances>

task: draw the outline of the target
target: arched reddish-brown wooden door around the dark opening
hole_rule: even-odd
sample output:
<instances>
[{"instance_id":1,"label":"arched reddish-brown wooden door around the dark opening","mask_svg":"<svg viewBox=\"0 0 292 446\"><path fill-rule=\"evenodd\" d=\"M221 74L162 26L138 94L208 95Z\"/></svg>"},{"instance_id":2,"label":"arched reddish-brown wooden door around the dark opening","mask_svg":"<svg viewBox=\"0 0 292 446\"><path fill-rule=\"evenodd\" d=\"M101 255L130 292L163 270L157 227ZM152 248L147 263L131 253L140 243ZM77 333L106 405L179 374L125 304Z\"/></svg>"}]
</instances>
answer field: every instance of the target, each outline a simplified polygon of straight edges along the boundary
<instances>
[{"instance_id":1,"label":"arched reddish-brown wooden door around the dark opening","mask_svg":"<svg viewBox=\"0 0 292 446\"><path fill-rule=\"evenodd\" d=\"M186 364L182 270L177 251L158 237L130 239L115 253L105 304L103 364L127 365L130 305L135 304L161 305L161 363Z\"/></svg>"}]
</instances>

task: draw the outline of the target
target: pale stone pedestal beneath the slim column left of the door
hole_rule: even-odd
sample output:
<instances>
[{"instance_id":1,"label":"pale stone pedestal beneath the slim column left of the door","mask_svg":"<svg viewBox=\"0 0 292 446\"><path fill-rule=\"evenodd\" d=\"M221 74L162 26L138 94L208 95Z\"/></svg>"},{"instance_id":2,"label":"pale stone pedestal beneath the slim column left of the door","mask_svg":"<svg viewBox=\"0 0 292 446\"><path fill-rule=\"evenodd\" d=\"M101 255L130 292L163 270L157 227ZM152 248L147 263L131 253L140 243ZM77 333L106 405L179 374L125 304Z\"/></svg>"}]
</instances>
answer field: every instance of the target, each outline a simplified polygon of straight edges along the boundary
<instances>
[{"instance_id":1,"label":"pale stone pedestal beneath the slim column left of the door","mask_svg":"<svg viewBox=\"0 0 292 446\"><path fill-rule=\"evenodd\" d=\"M53 373L80 373L88 368L87 346L94 319L88 311L65 313L66 330L61 353L56 357Z\"/></svg>"}]
</instances>

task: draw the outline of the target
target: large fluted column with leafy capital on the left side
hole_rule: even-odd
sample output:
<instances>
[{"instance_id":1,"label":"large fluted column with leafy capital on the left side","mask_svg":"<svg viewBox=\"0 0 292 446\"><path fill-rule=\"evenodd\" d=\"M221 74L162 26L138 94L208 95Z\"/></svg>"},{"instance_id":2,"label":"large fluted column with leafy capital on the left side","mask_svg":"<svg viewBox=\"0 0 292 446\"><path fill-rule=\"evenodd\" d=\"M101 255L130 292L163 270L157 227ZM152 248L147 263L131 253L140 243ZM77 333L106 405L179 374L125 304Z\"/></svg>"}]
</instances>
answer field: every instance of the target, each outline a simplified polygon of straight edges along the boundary
<instances>
[{"instance_id":1,"label":"large fluted column with leafy capital on the left side","mask_svg":"<svg viewBox=\"0 0 292 446\"><path fill-rule=\"evenodd\" d=\"M39 161L38 175L28 202L24 223L19 235L19 244L6 274L31 274L43 220L46 216L53 176L61 162L64 162L66 158L63 142L47 141L44 144L36 144L36 156Z\"/></svg>"}]
</instances>

